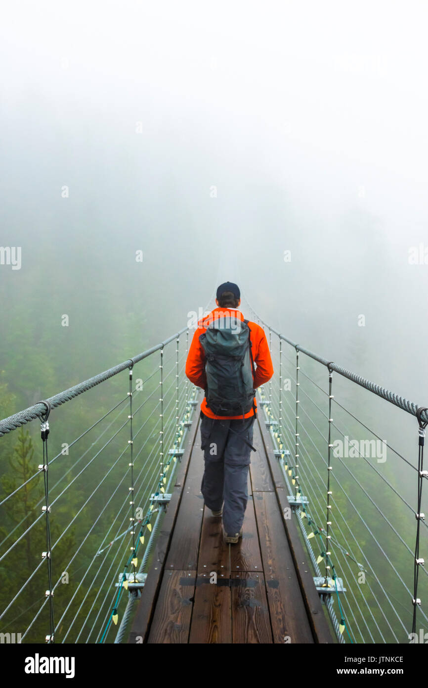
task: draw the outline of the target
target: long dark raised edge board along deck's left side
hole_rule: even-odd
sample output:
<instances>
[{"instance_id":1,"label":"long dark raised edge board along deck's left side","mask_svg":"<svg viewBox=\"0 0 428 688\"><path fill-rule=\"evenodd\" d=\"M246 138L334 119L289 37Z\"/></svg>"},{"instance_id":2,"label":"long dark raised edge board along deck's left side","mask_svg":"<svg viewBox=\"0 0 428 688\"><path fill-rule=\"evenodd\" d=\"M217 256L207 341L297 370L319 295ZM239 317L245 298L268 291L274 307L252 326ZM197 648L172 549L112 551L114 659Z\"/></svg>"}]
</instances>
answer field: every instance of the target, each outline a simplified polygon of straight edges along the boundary
<instances>
[{"instance_id":1,"label":"long dark raised edge board along deck's left side","mask_svg":"<svg viewBox=\"0 0 428 688\"><path fill-rule=\"evenodd\" d=\"M176 486L174 486L172 490L172 496L166 510L166 515L164 516L164 521L161 524L157 539L155 541L153 561L150 565L146 583L142 590L142 596L139 600L133 623L131 625L128 643L146 643L148 638L150 621L153 619L157 594L159 593L162 573L164 571L165 557L172 539L174 523L177 518L183 493L181 484L183 483L185 475L188 472L192 447L198 432L198 428L199 420L196 416L194 425L192 425L193 434L190 433L188 443L185 446L185 450L181 458L181 462L179 463L179 466L177 466Z\"/></svg>"}]
</instances>

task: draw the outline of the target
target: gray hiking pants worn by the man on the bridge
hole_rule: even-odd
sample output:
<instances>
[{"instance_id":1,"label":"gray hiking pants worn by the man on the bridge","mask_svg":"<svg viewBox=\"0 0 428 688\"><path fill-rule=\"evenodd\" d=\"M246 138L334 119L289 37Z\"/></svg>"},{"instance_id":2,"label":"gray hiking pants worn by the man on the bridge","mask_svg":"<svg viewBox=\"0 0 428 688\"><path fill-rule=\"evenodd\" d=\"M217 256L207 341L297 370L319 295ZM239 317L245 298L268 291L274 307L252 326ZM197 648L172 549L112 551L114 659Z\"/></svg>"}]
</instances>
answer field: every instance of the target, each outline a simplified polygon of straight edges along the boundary
<instances>
[{"instance_id":1,"label":"gray hiking pants worn by the man on the bridge","mask_svg":"<svg viewBox=\"0 0 428 688\"><path fill-rule=\"evenodd\" d=\"M205 504L220 511L227 535L239 533L247 508L247 479L254 418L214 420L201 413L201 449L205 462L201 492Z\"/></svg>"}]
</instances>

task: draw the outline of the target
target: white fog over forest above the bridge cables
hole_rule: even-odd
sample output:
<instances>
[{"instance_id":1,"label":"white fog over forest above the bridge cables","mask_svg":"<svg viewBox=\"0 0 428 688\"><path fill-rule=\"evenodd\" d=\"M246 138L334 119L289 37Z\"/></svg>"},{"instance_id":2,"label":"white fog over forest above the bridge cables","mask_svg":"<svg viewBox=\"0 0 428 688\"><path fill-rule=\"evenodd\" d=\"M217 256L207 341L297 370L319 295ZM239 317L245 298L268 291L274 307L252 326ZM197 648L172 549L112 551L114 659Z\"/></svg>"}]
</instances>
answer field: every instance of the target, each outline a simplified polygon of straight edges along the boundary
<instances>
[{"instance_id":1,"label":"white fog over forest above the bridge cables","mask_svg":"<svg viewBox=\"0 0 428 688\"><path fill-rule=\"evenodd\" d=\"M428 257L409 263L428 242L427 14L4 7L1 244L22 265L0 270L1 367L19 400L30 374L44 398L59 391L38 369L43 342L68 387L177 331L231 280L293 341L427 403ZM12 380L24 342L34 357Z\"/></svg>"}]
</instances>

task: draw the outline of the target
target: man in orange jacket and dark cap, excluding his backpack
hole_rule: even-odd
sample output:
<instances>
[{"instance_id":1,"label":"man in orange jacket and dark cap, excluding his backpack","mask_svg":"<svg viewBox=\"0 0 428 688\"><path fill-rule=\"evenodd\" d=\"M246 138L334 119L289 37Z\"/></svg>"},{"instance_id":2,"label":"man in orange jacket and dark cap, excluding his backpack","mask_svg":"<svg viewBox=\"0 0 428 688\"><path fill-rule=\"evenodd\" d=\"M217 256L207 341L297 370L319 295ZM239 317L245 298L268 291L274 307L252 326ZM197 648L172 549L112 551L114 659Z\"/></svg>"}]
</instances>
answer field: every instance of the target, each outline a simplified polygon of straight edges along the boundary
<instances>
[{"instance_id":1,"label":"man in orange jacket and dark cap, excluding his backpack","mask_svg":"<svg viewBox=\"0 0 428 688\"><path fill-rule=\"evenodd\" d=\"M247 508L247 479L257 408L254 391L271 379L273 366L264 330L256 323L244 321L243 314L240 310L236 310L240 305L238 286L232 282L225 282L218 287L216 297L218 308L214 308L205 319L199 321L196 327L185 364L185 374L194 385L205 390L201 403L201 449L204 451L205 462L201 492L206 506L212 510L212 515L223 515L226 542L232 544L237 543L243 535L241 526ZM223 413L218 413L221 409L220 403L216 405L217 413L215 413L207 402L207 396L215 398L213 395L216 392L216 390L210 390L209 385L207 386L205 370L207 363L205 350L208 350L207 328L212 324L213 327L217 325L218 329L221 329L222 323L225 323L225 326L236 323L238 330L242 325L246 333L248 330L244 322L248 323L249 328L250 358L252 354L253 389L249 390L251 400L249 404L247 403L247 406L251 408L245 411L243 407L243 412L236 415L223 415ZM202 336L204 334L205 338ZM247 342L247 336L245 336L245 342ZM210 356L209 360L212 361L214 358ZM237 357L232 356L232 358ZM247 376L250 376L248 372L250 358L247 356ZM240 376L245 378L245 371L240 370ZM233 387L233 385L234 380L229 386ZM214 405L213 402L211 403ZM227 408L227 404L224 408Z\"/></svg>"}]
</instances>

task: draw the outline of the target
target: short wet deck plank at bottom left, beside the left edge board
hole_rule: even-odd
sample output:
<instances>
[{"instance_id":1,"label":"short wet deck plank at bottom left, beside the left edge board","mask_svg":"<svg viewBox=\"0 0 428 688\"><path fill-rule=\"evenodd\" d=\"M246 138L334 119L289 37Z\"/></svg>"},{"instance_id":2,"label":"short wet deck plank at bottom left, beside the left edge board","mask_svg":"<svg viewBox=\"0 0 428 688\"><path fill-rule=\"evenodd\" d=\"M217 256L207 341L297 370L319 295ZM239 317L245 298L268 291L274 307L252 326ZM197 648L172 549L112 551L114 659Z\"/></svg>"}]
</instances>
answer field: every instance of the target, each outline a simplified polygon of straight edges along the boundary
<instances>
[{"instance_id":1,"label":"short wet deck plank at bottom left, beside the left edge board","mask_svg":"<svg viewBox=\"0 0 428 688\"><path fill-rule=\"evenodd\" d=\"M188 643L196 571L164 571L148 643Z\"/></svg>"}]
</instances>

